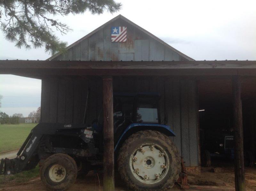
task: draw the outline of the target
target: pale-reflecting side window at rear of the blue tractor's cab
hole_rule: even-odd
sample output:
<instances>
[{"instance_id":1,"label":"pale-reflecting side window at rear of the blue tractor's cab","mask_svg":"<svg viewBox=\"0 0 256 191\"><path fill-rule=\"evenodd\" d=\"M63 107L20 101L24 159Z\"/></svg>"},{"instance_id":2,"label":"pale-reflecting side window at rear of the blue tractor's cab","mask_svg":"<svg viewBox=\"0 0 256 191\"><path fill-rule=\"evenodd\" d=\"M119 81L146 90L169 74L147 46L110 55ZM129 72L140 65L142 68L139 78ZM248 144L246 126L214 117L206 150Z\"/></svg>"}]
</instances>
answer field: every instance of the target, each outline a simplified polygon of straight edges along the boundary
<instances>
[{"instance_id":1,"label":"pale-reflecting side window at rear of the blue tractor's cab","mask_svg":"<svg viewBox=\"0 0 256 191\"><path fill-rule=\"evenodd\" d=\"M138 123L158 123L158 100L156 98L139 97L137 103Z\"/></svg>"}]
</instances>

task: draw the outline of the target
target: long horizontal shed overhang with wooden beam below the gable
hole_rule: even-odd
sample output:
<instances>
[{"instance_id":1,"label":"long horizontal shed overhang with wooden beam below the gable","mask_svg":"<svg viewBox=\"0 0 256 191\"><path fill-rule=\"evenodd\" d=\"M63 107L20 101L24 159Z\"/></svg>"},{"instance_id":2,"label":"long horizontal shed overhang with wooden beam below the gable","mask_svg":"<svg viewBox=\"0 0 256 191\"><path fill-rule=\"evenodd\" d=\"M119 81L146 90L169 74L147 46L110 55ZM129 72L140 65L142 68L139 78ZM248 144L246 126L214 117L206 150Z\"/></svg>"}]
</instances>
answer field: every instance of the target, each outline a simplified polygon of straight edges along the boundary
<instances>
[{"instance_id":1,"label":"long horizontal shed overhang with wooden beam below the gable","mask_svg":"<svg viewBox=\"0 0 256 191\"><path fill-rule=\"evenodd\" d=\"M256 76L256 61L0 60L0 74L46 76Z\"/></svg>"}]
</instances>

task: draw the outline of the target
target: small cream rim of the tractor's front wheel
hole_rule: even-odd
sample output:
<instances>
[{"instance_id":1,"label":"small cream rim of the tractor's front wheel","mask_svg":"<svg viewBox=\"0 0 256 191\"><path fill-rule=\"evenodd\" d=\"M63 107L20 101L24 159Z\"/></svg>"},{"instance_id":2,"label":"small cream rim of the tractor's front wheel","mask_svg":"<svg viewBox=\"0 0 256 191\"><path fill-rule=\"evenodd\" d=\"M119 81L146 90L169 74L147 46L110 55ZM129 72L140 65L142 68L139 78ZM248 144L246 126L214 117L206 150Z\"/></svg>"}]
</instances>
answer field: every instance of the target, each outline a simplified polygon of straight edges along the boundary
<instances>
[{"instance_id":1,"label":"small cream rim of the tractor's front wheel","mask_svg":"<svg viewBox=\"0 0 256 191\"><path fill-rule=\"evenodd\" d=\"M66 177L66 169L60 164L54 164L49 170L49 177L53 182L60 182Z\"/></svg>"}]
</instances>

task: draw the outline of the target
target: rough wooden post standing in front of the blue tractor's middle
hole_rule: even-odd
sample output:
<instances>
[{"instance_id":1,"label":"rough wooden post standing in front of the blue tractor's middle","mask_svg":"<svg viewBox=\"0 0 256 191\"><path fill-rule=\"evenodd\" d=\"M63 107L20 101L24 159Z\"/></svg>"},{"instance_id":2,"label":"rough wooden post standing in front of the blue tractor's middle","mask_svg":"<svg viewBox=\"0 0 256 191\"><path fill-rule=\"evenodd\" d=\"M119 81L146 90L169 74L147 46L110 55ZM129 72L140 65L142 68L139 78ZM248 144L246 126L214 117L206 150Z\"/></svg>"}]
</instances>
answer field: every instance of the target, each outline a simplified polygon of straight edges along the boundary
<instances>
[{"instance_id":1,"label":"rough wooden post standing in front of the blue tractor's middle","mask_svg":"<svg viewBox=\"0 0 256 191\"><path fill-rule=\"evenodd\" d=\"M114 123L113 123L113 84L111 76L103 77L103 143L104 177L103 190L114 191Z\"/></svg>"}]
</instances>

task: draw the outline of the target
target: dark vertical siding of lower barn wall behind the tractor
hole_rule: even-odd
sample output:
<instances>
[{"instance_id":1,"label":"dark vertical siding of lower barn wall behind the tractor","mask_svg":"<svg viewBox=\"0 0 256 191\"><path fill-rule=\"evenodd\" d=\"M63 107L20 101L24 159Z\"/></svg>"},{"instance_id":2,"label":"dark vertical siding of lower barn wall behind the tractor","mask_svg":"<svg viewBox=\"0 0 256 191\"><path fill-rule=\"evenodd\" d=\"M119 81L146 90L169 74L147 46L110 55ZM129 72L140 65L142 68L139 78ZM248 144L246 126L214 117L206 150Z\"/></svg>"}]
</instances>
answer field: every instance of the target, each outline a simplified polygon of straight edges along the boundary
<instances>
[{"instance_id":1,"label":"dark vertical siding of lower barn wall behind the tractor","mask_svg":"<svg viewBox=\"0 0 256 191\"><path fill-rule=\"evenodd\" d=\"M88 88L91 89L88 123L102 121L102 79L100 77L42 80L41 121L82 123ZM114 92L160 94L161 122L176 134L173 142L185 166L198 166L198 100L195 79L158 76L115 76Z\"/></svg>"}]
</instances>

